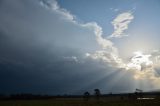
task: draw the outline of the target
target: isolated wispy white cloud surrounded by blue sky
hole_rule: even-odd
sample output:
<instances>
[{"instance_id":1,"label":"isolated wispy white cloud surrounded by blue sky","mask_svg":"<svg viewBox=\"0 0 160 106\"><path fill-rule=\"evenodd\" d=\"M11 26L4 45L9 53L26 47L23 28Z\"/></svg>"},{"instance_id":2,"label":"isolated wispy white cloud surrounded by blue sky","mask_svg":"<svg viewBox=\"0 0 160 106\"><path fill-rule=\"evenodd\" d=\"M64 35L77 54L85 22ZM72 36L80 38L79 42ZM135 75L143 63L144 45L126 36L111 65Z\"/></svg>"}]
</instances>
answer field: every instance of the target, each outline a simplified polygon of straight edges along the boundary
<instances>
[{"instance_id":1,"label":"isolated wispy white cloud surrounded by blue sky","mask_svg":"<svg viewBox=\"0 0 160 106\"><path fill-rule=\"evenodd\" d=\"M119 14L113 21L114 32L110 35L110 38L121 38L127 36L124 31L128 29L128 25L132 22L134 16L131 12L124 12Z\"/></svg>"}]
</instances>

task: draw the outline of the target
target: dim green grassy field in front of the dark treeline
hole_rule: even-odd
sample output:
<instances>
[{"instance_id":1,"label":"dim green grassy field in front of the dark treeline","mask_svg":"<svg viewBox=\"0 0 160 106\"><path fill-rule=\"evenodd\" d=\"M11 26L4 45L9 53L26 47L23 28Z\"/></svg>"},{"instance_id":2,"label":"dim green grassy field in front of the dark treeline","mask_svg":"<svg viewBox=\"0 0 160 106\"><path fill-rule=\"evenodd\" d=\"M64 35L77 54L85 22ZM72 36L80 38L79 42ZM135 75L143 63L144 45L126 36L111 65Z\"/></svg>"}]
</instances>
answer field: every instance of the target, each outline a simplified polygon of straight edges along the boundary
<instances>
[{"instance_id":1,"label":"dim green grassy field in front of the dark treeline","mask_svg":"<svg viewBox=\"0 0 160 106\"><path fill-rule=\"evenodd\" d=\"M0 101L0 106L160 106L160 100L107 100L82 98L64 98L50 100L7 100Z\"/></svg>"}]
</instances>

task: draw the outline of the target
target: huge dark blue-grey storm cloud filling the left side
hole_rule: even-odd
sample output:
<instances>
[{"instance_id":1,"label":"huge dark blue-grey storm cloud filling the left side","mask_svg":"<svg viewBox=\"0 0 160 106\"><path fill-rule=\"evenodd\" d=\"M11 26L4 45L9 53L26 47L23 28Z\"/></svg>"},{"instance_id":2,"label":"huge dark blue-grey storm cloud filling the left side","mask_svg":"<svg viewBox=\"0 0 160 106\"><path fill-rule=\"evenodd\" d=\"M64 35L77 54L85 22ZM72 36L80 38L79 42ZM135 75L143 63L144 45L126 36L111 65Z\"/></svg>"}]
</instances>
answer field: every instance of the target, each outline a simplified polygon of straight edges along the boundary
<instances>
[{"instance_id":1,"label":"huge dark blue-grey storm cloud filling the left side","mask_svg":"<svg viewBox=\"0 0 160 106\"><path fill-rule=\"evenodd\" d=\"M112 89L107 82L120 72L85 58L98 48L93 31L36 0L3 0L0 8L0 93Z\"/></svg>"}]
</instances>

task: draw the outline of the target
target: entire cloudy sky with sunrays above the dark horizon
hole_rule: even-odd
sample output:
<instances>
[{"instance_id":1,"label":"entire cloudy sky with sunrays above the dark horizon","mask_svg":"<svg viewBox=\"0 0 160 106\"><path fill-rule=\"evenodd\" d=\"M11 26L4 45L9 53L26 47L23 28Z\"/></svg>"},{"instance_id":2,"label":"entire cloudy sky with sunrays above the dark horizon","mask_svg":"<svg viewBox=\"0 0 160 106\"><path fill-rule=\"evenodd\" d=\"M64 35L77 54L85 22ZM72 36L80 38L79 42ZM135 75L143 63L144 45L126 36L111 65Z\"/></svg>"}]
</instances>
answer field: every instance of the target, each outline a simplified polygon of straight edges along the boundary
<instances>
[{"instance_id":1,"label":"entire cloudy sky with sunrays above the dark horizon","mask_svg":"<svg viewBox=\"0 0 160 106\"><path fill-rule=\"evenodd\" d=\"M0 93L160 89L159 0L1 0Z\"/></svg>"}]
</instances>

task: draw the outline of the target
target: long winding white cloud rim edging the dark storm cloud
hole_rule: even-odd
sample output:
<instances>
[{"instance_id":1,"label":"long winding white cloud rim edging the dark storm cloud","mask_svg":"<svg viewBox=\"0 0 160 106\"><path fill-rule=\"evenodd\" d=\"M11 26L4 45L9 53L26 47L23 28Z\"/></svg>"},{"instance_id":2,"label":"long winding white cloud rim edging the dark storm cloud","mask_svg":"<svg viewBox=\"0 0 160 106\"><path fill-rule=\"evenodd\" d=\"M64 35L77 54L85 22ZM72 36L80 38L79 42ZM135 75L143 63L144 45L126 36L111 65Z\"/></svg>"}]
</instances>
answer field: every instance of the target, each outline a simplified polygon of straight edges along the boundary
<instances>
[{"instance_id":1,"label":"long winding white cloud rim edging the dark storm cloud","mask_svg":"<svg viewBox=\"0 0 160 106\"><path fill-rule=\"evenodd\" d=\"M70 14L67 10L60 8L55 0L53 0L53 1L54 2L52 2L52 3L49 1L48 2L41 1L40 3L42 4L42 6L47 7L53 11L56 11L56 12L60 13L61 15L64 15L64 17L67 20L74 21L74 16L72 14ZM68 16L71 18L67 18ZM78 23L77 21L74 21L74 22L81 27L88 28L88 29L91 29L92 31L94 31L96 41L103 49L102 51L98 50L98 51L96 51L96 53L93 53L93 54L86 53L89 55L87 57L91 57L93 59L102 59L103 61L108 62L111 65L116 65L118 67L122 67L121 59L118 57L117 48L114 47L114 44L112 41L110 41L108 39L104 39L102 37L102 35L103 35L102 28L96 22L88 22L85 24Z\"/></svg>"}]
</instances>

